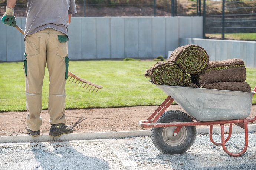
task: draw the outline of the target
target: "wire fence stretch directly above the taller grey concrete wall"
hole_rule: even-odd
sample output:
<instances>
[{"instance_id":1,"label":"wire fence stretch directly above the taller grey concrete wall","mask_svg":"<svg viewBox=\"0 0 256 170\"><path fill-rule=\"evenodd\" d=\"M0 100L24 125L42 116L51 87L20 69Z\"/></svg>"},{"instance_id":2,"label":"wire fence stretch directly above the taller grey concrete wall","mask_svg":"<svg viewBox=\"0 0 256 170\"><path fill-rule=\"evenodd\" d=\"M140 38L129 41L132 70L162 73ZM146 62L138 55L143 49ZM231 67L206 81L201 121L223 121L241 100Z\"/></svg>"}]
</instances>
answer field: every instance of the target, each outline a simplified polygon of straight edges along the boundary
<instances>
[{"instance_id":1,"label":"wire fence stretch directly above the taller grey concrete wall","mask_svg":"<svg viewBox=\"0 0 256 170\"><path fill-rule=\"evenodd\" d=\"M201 0L75 0L77 17L200 16ZM0 15L6 4L0 4ZM17 3L15 16L26 16L27 4Z\"/></svg>"}]
</instances>

